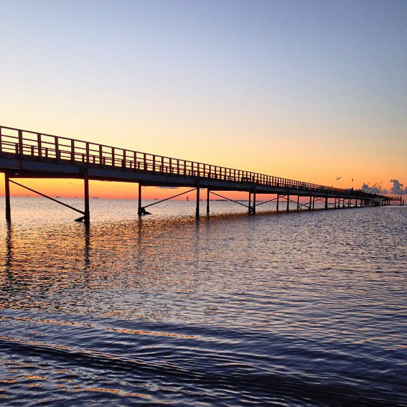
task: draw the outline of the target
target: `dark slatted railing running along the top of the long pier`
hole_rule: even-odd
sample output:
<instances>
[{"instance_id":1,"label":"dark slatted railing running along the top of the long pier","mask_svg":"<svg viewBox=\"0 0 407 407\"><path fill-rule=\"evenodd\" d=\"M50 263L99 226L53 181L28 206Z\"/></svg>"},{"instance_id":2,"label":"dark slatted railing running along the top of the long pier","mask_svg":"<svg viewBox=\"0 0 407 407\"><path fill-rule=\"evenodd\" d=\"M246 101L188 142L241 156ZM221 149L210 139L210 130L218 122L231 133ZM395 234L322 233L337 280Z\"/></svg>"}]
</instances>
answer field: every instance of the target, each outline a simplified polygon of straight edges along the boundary
<instances>
[{"instance_id":1,"label":"dark slatted railing running along the top of the long pier","mask_svg":"<svg viewBox=\"0 0 407 407\"><path fill-rule=\"evenodd\" d=\"M0 126L0 155L325 193L352 191ZM359 192L358 194L361 194ZM364 193L363 195L370 195Z\"/></svg>"}]
</instances>

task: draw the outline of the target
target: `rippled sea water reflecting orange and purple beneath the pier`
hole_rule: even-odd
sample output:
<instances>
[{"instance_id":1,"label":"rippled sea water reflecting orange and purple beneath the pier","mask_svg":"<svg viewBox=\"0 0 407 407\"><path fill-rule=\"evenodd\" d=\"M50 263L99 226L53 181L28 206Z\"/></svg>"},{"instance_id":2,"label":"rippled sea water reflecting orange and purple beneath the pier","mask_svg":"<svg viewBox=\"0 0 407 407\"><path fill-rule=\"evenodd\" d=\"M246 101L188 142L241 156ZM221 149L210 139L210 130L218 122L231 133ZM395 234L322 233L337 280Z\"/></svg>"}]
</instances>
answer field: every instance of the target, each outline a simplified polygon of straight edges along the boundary
<instances>
[{"instance_id":1,"label":"rippled sea water reflecting orange and purple beneath the pier","mask_svg":"<svg viewBox=\"0 0 407 407\"><path fill-rule=\"evenodd\" d=\"M12 198L1 405L407 405L407 207L194 205Z\"/></svg>"}]
</instances>

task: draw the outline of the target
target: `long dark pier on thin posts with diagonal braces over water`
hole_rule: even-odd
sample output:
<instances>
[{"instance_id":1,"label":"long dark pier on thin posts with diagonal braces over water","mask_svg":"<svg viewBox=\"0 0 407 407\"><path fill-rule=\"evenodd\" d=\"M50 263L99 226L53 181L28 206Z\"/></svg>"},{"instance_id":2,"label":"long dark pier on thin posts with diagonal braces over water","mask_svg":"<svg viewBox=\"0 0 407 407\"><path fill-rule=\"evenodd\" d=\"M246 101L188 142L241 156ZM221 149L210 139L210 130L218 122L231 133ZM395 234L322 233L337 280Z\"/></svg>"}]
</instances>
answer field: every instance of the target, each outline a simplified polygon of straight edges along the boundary
<instances>
[{"instance_id":1,"label":"long dark pier on thin posts with diagonal braces over water","mask_svg":"<svg viewBox=\"0 0 407 407\"><path fill-rule=\"evenodd\" d=\"M256 213L256 208L259 205L269 201L277 202L277 210L279 210L279 205L281 208L284 205L285 208L282 209L287 212L290 202L295 202L297 210L306 209L309 211L314 209L315 202L323 202L325 209L389 205L390 203L387 196L361 190L333 188L7 126L0 126L0 171L5 174L7 220L11 219L10 182L46 196L13 181L13 179L18 178L82 179L84 185L83 211L54 198L51 199L82 214L77 220L84 222L90 221L89 180L137 183L138 215L148 213L146 211L147 206L142 205L142 186L192 188L196 192L196 217L199 217L201 189L207 190L206 209L208 213L210 211L210 194L244 205L242 202L219 194L219 191L248 192L249 203L244 206L251 214ZM183 193L185 192L181 194ZM276 197L266 202L257 202L256 195L258 194L270 194L276 195ZM306 203L300 201L301 197L307 198ZM161 201L151 205L159 202Z\"/></svg>"}]
</instances>

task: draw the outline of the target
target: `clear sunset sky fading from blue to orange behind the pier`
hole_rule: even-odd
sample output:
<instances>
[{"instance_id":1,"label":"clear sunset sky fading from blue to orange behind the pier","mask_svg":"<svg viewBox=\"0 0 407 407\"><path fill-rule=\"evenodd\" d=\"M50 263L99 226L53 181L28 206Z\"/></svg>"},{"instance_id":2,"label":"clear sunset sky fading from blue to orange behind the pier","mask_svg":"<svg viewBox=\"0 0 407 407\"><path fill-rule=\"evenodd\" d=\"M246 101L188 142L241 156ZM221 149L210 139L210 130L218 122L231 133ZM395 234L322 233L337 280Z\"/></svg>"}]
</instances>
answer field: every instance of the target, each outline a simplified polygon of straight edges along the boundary
<instances>
[{"instance_id":1,"label":"clear sunset sky fading from blue to orange behind the pier","mask_svg":"<svg viewBox=\"0 0 407 407\"><path fill-rule=\"evenodd\" d=\"M1 125L340 188L407 185L404 0L3 0L0 33Z\"/></svg>"}]
</instances>

